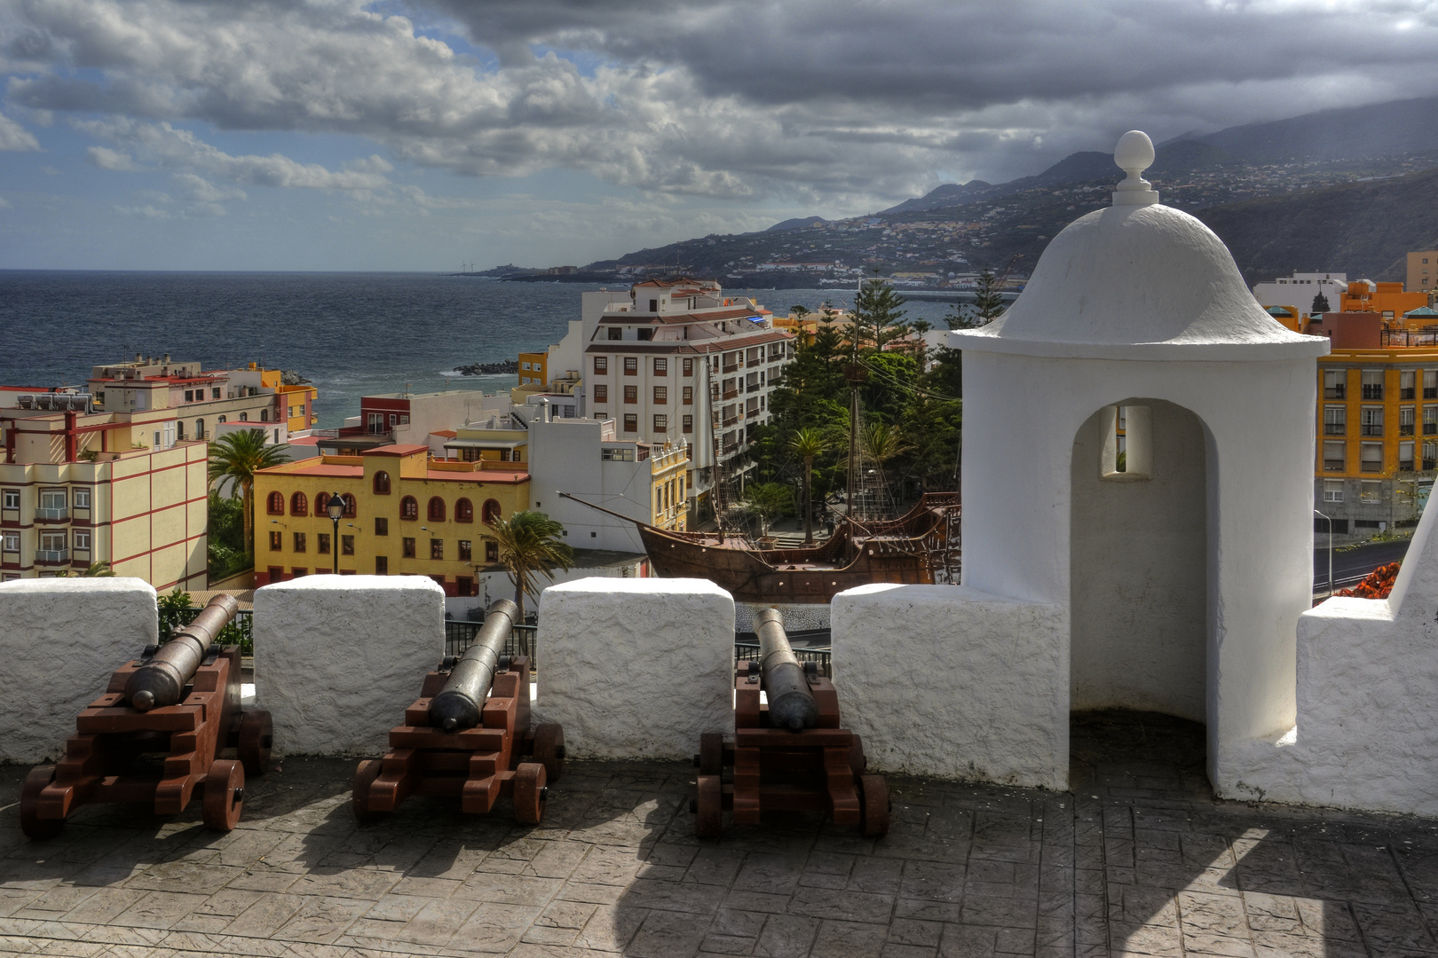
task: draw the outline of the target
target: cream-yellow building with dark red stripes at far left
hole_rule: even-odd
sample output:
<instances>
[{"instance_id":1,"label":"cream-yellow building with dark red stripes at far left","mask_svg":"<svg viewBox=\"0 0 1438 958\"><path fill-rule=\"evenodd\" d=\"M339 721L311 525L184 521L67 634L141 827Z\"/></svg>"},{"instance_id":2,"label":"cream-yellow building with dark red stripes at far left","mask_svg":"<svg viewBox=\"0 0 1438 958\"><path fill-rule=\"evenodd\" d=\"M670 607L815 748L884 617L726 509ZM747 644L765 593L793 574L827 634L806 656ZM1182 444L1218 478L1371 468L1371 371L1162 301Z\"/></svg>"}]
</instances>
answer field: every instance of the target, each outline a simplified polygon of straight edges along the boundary
<instances>
[{"instance_id":1,"label":"cream-yellow building with dark red stripes at far left","mask_svg":"<svg viewBox=\"0 0 1438 958\"><path fill-rule=\"evenodd\" d=\"M207 447L177 438L174 409L10 386L0 405L0 577L108 562L161 592L207 587Z\"/></svg>"}]
</instances>

